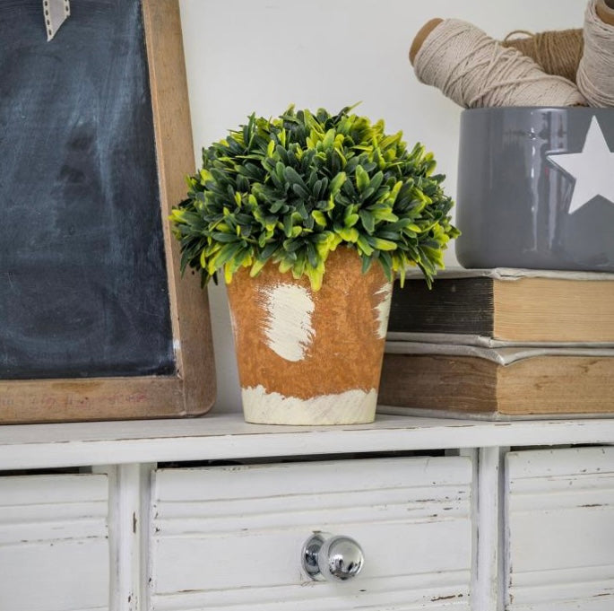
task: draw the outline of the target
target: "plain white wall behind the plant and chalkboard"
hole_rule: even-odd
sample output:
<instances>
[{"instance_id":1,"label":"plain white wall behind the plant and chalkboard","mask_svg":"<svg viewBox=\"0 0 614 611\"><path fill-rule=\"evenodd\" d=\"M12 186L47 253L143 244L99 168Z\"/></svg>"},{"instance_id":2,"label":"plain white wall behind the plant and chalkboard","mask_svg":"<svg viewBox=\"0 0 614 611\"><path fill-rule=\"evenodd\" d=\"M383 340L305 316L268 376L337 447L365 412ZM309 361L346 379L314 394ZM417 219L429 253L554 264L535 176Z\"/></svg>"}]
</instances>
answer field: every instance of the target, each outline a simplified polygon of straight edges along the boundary
<instances>
[{"instance_id":1,"label":"plain white wall behind the plant and chalkboard","mask_svg":"<svg viewBox=\"0 0 614 611\"><path fill-rule=\"evenodd\" d=\"M513 30L581 27L579 0L180 0L195 142L200 151L255 111L290 103L355 111L402 129L435 153L454 196L460 116L453 102L417 82L411 39L432 17L472 22L501 39ZM196 165L195 165L196 167ZM454 263L454 252L446 257ZM240 410L226 292L210 288L218 379L216 411Z\"/></svg>"}]
</instances>

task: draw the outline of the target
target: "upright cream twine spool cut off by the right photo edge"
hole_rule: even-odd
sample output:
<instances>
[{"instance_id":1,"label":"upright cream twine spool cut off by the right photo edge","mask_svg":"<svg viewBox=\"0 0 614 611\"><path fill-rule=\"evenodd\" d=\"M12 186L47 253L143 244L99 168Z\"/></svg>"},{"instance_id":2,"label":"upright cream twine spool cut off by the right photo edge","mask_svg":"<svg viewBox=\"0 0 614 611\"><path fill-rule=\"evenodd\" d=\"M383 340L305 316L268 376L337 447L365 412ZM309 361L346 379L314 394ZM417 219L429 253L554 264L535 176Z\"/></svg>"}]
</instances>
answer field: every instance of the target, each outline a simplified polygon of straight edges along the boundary
<instances>
[{"instance_id":1,"label":"upright cream twine spool cut off by the right photo edge","mask_svg":"<svg viewBox=\"0 0 614 611\"><path fill-rule=\"evenodd\" d=\"M576 80L590 106L614 107L614 11L603 0L590 0L586 7Z\"/></svg>"}]
</instances>

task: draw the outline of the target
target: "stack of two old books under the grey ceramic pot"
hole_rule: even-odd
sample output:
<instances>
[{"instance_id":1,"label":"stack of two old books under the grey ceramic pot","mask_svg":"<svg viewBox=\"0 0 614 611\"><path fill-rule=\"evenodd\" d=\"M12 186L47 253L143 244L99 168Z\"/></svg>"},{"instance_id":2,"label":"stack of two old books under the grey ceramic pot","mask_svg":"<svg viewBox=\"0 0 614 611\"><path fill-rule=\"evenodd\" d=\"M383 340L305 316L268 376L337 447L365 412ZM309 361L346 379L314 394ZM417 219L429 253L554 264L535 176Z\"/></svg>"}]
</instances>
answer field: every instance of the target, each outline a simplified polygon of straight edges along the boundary
<instances>
[{"instance_id":1,"label":"stack of two old books under the grey ceramic pot","mask_svg":"<svg viewBox=\"0 0 614 611\"><path fill-rule=\"evenodd\" d=\"M614 415L614 274L450 270L394 286L388 414Z\"/></svg>"}]
</instances>

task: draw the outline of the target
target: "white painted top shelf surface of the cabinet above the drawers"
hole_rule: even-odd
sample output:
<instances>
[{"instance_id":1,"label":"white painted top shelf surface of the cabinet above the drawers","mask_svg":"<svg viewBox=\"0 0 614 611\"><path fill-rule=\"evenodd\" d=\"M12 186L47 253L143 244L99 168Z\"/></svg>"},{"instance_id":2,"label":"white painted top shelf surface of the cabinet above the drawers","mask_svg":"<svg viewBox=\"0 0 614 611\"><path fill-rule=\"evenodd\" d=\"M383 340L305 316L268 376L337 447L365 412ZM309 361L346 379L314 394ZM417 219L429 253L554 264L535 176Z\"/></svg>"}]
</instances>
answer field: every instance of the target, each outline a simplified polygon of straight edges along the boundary
<instances>
[{"instance_id":1,"label":"white painted top shelf surface of the cabinet above the drawers","mask_svg":"<svg viewBox=\"0 0 614 611\"><path fill-rule=\"evenodd\" d=\"M484 422L377 415L372 424L248 424L199 418L0 426L0 471L129 463L614 443L614 419Z\"/></svg>"}]
</instances>

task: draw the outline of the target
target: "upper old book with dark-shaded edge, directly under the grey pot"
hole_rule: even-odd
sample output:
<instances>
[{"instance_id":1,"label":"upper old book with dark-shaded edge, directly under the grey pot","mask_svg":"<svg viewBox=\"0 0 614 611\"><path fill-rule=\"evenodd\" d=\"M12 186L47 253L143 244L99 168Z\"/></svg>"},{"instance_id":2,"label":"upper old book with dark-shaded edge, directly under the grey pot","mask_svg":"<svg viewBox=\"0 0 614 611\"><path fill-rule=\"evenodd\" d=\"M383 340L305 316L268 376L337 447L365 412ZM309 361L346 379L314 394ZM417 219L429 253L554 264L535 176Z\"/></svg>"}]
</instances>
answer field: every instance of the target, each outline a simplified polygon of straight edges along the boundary
<instances>
[{"instance_id":1,"label":"upper old book with dark-shaded edge, directly under the grey pot","mask_svg":"<svg viewBox=\"0 0 614 611\"><path fill-rule=\"evenodd\" d=\"M394 285L388 340L614 345L614 274L445 270Z\"/></svg>"}]
</instances>

